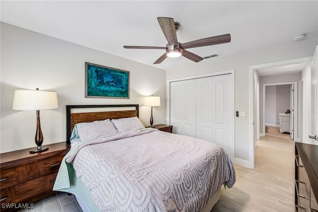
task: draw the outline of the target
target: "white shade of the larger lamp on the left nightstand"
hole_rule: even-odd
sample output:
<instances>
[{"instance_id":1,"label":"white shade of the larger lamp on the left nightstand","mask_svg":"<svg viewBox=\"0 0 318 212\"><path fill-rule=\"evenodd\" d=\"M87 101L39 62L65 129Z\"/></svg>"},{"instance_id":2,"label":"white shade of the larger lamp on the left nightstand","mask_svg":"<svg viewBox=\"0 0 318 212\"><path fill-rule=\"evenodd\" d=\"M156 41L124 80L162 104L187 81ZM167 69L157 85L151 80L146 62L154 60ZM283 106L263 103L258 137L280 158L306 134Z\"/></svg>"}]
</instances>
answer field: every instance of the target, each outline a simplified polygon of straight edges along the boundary
<instances>
[{"instance_id":1,"label":"white shade of the larger lamp on the left nightstand","mask_svg":"<svg viewBox=\"0 0 318 212\"><path fill-rule=\"evenodd\" d=\"M13 110L42 110L58 108L55 91L16 90L13 97Z\"/></svg>"}]
</instances>

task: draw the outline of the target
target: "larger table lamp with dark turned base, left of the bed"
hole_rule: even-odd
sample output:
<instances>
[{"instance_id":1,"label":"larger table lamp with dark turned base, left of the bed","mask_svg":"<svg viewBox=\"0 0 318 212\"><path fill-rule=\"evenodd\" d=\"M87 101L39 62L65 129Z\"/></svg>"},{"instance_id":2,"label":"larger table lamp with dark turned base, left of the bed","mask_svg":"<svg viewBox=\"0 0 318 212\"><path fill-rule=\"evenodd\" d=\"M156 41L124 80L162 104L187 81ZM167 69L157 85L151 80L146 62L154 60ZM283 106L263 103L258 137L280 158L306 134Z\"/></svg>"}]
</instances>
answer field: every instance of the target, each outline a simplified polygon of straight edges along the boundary
<instances>
[{"instance_id":1,"label":"larger table lamp with dark turned base, left of the bed","mask_svg":"<svg viewBox=\"0 0 318 212\"><path fill-rule=\"evenodd\" d=\"M13 110L36 110L35 143L37 147L30 149L30 152L40 152L49 148L49 146L42 146L43 135L40 124L40 110L58 107L57 93L54 91L39 91L39 89L14 91Z\"/></svg>"}]
</instances>

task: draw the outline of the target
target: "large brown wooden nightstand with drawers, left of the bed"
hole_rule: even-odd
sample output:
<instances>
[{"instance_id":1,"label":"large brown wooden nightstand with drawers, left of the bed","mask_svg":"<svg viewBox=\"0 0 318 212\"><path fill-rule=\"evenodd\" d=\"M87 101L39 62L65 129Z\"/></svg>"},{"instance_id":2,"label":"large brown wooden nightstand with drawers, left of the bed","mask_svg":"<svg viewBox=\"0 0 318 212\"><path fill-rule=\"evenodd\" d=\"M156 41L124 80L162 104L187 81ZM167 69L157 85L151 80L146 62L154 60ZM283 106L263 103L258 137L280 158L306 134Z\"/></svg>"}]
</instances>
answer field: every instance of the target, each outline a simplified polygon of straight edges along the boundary
<instances>
[{"instance_id":1,"label":"large brown wooden nightstand with drawers, left of the bed","mask_svg":"<svg viewBox=\"0 0 318 212\"><path fill-rule=\"evenodd\" d=\"M0 154L1 211L16 210L14 207L20 203L30 206L56 193L52 191L54 182L61 161L71 147L66 142L48 146L48 150L38 153L23 149ZM2 207L3 204L9 208Z\"/></svg>"}]
</instances>

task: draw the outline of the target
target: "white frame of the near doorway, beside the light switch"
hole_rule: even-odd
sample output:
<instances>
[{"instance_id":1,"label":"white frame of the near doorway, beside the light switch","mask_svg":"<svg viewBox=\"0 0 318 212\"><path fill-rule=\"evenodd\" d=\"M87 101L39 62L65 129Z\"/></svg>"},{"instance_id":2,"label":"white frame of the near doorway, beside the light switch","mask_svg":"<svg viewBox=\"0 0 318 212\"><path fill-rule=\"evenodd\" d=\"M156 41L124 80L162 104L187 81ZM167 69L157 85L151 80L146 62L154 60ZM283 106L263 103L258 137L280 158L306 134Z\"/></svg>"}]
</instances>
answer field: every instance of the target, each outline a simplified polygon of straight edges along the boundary
<instances>
[{"instance_id":1,"label":"white frame of the near doorway, beside the light switch","mask_svg":"<svg viewBox=\"0 0 318 212\"><path fill-rule=\"evenodd\" d=\"M254 134L255 132L255 125L254 125L254 106L255 106L255 98L254 98L254 72L257 69L262 68L272 68L277 66L284 66L284 65L292 65L297 63L304 63L304 62L310 62L312 60L311 57L302 57L302 58L296 58L291 60L284 60L284 61L278 61L278 62L272 62L272 63L264 63L259 65L253 65L249 66L249 167L251 169L254 169Z\"/></svg>"}]
</instances>

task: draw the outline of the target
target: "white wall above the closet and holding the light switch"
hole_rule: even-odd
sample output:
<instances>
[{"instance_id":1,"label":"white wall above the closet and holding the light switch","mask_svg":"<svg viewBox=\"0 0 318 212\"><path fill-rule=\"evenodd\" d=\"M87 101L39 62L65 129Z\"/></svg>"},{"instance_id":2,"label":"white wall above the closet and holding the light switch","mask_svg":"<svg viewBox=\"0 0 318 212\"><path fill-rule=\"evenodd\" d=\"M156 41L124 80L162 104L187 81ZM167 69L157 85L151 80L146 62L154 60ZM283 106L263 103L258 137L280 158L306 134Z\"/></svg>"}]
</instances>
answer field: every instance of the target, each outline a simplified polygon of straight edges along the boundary
<instances>
[{"instance_id":1,"label":"white wall above the closet and holding the light switch","mask_svg":"<svg viewBox=\"0 0 318 212\"><path fill-rule=\"evenodd\" d=\"M250 166L250 143L253 141L250 140L252 123L249 121L251 109L249 108L251 101L249 66L312 56L317 44L316 36L233 56L222 57L221 55L220 58L207 59L192 65L168 69L166 70L166 80L235 69L235 111L246 112L245 118L235 117L235 157L246 166ZM231 45L226 48L231 48ZM260 88L262 88L261 84ZM235 111L233 111L233 115Z\"/></svg>"}]
</instances>

